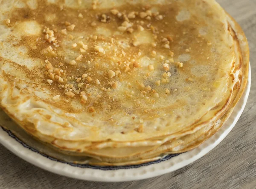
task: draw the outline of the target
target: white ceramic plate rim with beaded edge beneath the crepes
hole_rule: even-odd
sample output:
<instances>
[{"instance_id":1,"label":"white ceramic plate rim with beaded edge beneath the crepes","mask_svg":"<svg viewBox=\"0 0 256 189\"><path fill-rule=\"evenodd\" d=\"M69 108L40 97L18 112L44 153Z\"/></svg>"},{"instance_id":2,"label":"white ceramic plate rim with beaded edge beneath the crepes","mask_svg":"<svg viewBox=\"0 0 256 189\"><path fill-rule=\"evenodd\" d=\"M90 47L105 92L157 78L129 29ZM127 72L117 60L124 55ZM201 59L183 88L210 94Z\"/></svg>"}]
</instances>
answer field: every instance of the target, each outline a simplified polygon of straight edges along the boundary
<instances>
[{"instance_id":1,"label":"white ceramic plate rim with beaded edge beneath the crepes","mask_svg":"<svg viewBox=\"0 0 256 189\"><path fill-rule=\"evenodd\" d=\"M251 84L251 71L244 94L230 118L221 129L199 147L179 155L168 155L161 160L133 166L90 166L58 161L20 141L13 133L0 127L0 143L20 158L50 172L88 181L134 181L163 175L180 169L201 158L216 147L233 129L247 102Z\"/></svg>"}]
</instances>

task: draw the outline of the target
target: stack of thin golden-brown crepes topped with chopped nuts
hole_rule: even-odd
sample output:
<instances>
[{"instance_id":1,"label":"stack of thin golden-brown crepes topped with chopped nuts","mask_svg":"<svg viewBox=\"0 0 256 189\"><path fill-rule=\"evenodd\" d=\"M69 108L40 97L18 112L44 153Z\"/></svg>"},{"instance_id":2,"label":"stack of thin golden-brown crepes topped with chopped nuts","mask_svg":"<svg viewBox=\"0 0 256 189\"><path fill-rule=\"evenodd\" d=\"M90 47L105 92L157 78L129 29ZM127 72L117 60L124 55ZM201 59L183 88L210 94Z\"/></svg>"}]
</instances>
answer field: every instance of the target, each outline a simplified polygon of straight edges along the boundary
<instances>
[{"instance_id":1,"label":"stack of thin golden-brown crepes topped with chopped nuts","mask_svg":"<svg viewBox=\"0 0 256 189\"><path fill-rule=\"evenodd\" d=\"M0 106L17 125L1 124L62 160L192 150L247 83L247 39L215 0L2 0L0 11Z\"/></svg>"}]
</instances>

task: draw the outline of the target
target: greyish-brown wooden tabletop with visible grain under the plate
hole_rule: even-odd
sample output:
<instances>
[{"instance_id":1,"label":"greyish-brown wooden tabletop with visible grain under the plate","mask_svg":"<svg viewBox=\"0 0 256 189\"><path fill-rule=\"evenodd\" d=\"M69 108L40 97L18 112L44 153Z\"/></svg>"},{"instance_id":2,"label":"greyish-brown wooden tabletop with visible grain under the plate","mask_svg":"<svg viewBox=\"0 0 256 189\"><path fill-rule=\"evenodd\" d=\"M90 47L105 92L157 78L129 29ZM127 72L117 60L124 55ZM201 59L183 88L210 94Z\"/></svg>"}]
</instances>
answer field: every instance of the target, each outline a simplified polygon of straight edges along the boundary
<instances>
[{"instance_id":1,"label":"greyish-brown wooden tabletop with visible grain under the plate","mask_svg":"<svg viewBox=\"0 0 256 189\"><path fill-rule=\"evenodd\" d=\"M256 189L256 0L218 0L250 44L252 85L244 113L214 150L183 169L143 181L96 183L44 171L0 145L0 189Z\"/></svg>"}]
</instances>

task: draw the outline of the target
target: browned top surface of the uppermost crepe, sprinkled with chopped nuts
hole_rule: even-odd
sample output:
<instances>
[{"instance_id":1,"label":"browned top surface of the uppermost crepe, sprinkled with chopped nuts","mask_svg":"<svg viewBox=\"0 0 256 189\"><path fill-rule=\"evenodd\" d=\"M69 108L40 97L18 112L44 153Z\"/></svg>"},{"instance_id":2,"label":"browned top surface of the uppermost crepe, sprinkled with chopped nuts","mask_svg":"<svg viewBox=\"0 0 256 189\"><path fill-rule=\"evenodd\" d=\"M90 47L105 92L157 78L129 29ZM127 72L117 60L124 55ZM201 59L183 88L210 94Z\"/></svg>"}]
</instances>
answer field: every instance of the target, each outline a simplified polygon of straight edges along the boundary
<instances>
[{"instance_id":1,"label":"browned top surface of the uppermost crepe, sprinkled with chopped nuts","mask_svg":"<svg viewBox=\"0 0 256 189\"><path fill-rule=\"evenodd\" d=\"M207 3L195 1L194 12L184 9L188 1L80 9L37 3L8 15L12 34L0 53L2 71L19 70L3 76L22 102L36 96L29 111L15 108L18 119L43 135L125 141L174 133L227 91L233 41ZM6 44L24 61L5 52Z\"/></svg>"}]
</instances>

